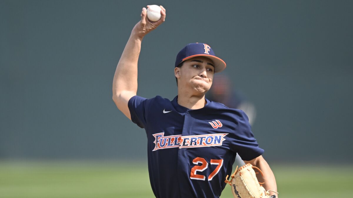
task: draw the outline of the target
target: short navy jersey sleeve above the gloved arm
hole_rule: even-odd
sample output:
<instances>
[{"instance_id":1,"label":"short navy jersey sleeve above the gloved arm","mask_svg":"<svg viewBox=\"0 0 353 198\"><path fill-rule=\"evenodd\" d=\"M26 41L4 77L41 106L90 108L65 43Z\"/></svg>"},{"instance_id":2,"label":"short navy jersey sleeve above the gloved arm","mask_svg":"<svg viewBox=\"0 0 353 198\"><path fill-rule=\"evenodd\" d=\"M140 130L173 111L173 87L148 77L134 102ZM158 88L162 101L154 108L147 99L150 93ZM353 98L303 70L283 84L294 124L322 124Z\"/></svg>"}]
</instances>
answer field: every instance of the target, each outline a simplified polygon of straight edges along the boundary
<instances>
[{"instance_id":1,"label":"short navy jersey sleeve above the gloved arm","mask_svg":"<svg viewBox=\"0 0 353 198\"><path fill-rule=\"evenodd\" d=\"M259 148L246 114L239 110L239 119L235 123L234 133L232 133L231 150L237 152L242 160L249 161L263 154L264 150Z\"/></svg>"}]
</instances>

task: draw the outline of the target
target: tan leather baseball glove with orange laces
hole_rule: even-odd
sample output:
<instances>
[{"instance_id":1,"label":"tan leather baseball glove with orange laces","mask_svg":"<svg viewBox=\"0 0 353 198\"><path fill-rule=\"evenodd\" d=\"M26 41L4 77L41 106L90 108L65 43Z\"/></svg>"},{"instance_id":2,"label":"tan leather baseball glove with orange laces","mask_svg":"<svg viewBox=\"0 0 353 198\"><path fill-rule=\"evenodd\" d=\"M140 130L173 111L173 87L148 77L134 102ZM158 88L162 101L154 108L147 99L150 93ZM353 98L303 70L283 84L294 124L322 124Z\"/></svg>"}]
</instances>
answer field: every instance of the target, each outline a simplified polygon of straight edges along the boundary
<instances>
[{"instance_id":1,"label":"tan leather baseball glove with orange laces","mask_svg":"<svg viewBox=\"0 0 353 198\"><path fill-rule=\"evenodd\" d=\"M269 191L272 190L265 191L265 188L262 187L264 183L258 182L253 168L256 168L263 176L261 170L250 163L240 168L237 167L231 175L231 180L228 180L227 175L225 182L232 186L233 196L235 198L276 198L275 195L269 196Z\"/></svg>"}]
</instances>

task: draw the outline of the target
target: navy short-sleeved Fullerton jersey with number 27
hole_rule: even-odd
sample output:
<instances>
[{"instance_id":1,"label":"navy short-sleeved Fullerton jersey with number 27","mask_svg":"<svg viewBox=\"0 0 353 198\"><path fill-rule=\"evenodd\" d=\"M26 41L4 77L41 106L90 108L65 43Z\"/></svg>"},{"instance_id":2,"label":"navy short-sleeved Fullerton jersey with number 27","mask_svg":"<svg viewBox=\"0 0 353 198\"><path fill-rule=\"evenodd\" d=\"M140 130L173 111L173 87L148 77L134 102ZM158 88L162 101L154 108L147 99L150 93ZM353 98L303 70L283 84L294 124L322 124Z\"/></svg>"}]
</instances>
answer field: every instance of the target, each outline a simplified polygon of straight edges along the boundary
<instances>
[{"instance_id":1,"label":"navy short-sleeved Fullerton jersey with number 27","mask_svg":"<svg viewBox=\"0 0 353 198\"><path fill-rule=\"evenodd\" d=\"M147 135L148 170L157 198L220 197L236 153L252 160L263 153L247 116L207 100L191 110L160 96L132 97L132 122Z\"/></svg>"}]
</instances>

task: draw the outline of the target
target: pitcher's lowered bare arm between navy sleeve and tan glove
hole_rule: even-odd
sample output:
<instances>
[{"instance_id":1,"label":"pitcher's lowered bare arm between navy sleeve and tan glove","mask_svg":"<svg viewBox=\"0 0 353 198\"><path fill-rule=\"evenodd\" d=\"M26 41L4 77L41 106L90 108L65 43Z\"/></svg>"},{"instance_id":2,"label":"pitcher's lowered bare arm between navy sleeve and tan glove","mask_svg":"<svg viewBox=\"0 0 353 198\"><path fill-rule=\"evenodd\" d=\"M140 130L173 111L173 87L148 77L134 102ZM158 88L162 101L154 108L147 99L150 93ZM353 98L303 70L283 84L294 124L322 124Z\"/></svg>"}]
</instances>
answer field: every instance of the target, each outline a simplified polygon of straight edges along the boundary
<instances>
[{"instance_id":1,"label":"pitcher's lowered bare arm between navy sleeve and tan glove","mask_svg":"<svg viewBox=\"0 0 353 198\"><path fill-rule=\"evenodd\" d=\"M253 160L250 161L244 161L245 163L250 163L253 166L258 167L264 174L264 177L262 177L261 174L256 174L257 180L259 182L265 182L262 186L265 188L265 190L273 190L277 192L277 184L276 184L276 179L275 175L271 171L270 166L268 163L265 161L265 159L262 157L262 155L256 157ZM278 194L270 191L270 195L276 195L278 198Z\"/></svg>"}]
</instances>

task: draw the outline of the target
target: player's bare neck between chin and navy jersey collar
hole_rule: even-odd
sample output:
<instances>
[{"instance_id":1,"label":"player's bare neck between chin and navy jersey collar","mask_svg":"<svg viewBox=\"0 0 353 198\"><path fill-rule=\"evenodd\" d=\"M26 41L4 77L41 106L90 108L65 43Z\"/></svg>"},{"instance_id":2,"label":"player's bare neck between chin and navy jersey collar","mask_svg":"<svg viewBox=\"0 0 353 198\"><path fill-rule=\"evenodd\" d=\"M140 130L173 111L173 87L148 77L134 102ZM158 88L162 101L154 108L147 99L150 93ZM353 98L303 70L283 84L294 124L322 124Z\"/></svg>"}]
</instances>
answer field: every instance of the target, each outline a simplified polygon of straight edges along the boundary
<instances>
[{"instance_id":1,"label":"player's bare neck between chin and navy jersey collar","mask_svg":"<svg viewBox=\"0 0 353 198\"><path fill-rule=\"evenodd\" d=\"M201 109L205 106L205 94L195 95L191 93L178 92L178 104L187 109Z\"/></svg>"}]
</instances>

